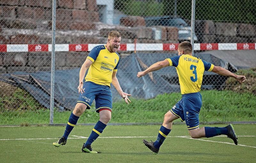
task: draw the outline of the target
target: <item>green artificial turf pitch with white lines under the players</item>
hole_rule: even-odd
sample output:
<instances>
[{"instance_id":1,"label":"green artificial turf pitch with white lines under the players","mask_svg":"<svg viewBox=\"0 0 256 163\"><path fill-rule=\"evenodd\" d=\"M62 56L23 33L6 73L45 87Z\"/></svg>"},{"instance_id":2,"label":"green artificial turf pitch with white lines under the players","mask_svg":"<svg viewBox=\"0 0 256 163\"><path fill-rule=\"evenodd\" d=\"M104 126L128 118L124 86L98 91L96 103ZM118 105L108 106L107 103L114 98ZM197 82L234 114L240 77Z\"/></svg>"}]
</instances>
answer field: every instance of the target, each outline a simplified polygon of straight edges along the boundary
<instances>
[{"instance_id":1,"label":"green artificial turf pitch with white lines under the players","mask_svg":"<svg viewBox=\"0 0 256 163\"><path fill-rule=\"evenodd\" d=\"M189 137L187 126L185 124L173 125L171 133L165 139L159 153L155 155L142 143L142 139L155 141L160 126L108 125L103 133L92 143L93 150L101 151L99 154L81 152L86 138L73 137L73 135L88 137L92 132L93 126L76 125L69 135L67 144L58 148L54 147L52 142L63 135L64 126L2 127L0 132L0 138L2 139L0 140L1 160L4 163L73 163L81 162L81 160L99 163L158 163L160 160L173 163L255 162L255 124L234 125L238 136L238 145L234 145L233 141L226 136L201 139L180 137ZM207 126L224 127L226 124ZM224 142L230 144L224 144ZM181 148L184 146L186 146L186 149ZM223 158L221 161L220 156Z\"/></svg>"}]
</instances>

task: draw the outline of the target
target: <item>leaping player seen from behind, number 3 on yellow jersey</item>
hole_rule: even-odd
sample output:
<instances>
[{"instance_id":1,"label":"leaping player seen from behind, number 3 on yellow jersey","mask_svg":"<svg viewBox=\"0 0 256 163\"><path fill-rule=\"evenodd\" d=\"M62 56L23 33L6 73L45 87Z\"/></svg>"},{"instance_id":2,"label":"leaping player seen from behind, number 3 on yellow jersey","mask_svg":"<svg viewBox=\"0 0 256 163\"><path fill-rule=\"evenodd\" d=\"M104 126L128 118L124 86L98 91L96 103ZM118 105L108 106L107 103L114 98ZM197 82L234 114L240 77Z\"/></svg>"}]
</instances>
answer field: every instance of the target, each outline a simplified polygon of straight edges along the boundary
<instances>
[{"instance_id":1,"label":"leaping player seen from behind, number 3 on yellow jersey","mask_svg":"<svg viewBox=\"0 0 256 163\"><path fill-rule=\"evenodd\" d=\"M156 71L166 66L174 66L178 73L180 92L182 94L182 99L164 115L164 122L159 130L156 141L148 142L143 140L143 143L152 152L158 153L164 139L172 129L172 121L180 118L181 121L186 121L188 132L193 138L214 137L224 134L237 144L237 137L232 124L226 127L199 128L199 111L202 106L202 96L199 91L202 85L204 71L212 71L220 75L232 77L240 83L244 82L245 76L236 75L222 67L214 66L211 63L192 56L192 46L188 41L179 44L178 53L178 56L156 62L148 67L148 69L137 74L137 77L140 78L148 72Z\"/></svg>"}]
</instances>

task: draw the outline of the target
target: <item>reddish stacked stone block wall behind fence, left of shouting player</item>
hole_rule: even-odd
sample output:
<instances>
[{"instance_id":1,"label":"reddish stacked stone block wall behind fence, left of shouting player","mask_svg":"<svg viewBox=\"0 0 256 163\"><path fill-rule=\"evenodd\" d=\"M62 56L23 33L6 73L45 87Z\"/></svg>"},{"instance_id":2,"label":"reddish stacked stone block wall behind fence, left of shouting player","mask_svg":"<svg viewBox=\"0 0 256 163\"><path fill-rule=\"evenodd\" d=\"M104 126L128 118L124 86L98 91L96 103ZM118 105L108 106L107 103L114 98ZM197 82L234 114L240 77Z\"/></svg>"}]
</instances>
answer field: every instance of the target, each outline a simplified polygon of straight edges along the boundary
<instances>
[{"instance_id":1,"label":"reddish stacked stone block wall behind fence, left of shouting player","mask_svg":"<svg viewBox=\"0 0 256 163\"><path fill-rule=\"evenodd\" d=\"M56 44L105 40L72 32L96 30L98 22L96 0L56 0ZM52 0L0 0L0 44L50 44L51 29ZM56 52L55 68L80 67L87 55L88 52ZM0 73L50 70L51 52L0 53Z\"/></svg>"}]
</instances>

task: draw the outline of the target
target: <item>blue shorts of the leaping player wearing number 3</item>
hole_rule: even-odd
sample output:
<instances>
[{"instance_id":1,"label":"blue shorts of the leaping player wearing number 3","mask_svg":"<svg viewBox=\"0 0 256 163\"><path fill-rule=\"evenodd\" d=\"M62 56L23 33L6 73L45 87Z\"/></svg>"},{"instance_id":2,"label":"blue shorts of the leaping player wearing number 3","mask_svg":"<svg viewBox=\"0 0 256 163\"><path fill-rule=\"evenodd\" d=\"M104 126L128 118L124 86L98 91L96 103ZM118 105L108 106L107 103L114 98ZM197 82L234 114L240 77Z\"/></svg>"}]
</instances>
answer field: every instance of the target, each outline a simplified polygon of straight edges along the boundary
<instances>
[{"instance_id":1,"label":"blue shorts of the leaping player wearing number 3","mask_svg":"<svg viewBox=\"0 0 256 163\"><path fill-rule=\"evenodd\" d=\"M183 94L182 99L171 109L171 112L186 121L188 130L199 127L199 112L202 107L202 95L197 93Z\"/></svg>"}]
</instances>

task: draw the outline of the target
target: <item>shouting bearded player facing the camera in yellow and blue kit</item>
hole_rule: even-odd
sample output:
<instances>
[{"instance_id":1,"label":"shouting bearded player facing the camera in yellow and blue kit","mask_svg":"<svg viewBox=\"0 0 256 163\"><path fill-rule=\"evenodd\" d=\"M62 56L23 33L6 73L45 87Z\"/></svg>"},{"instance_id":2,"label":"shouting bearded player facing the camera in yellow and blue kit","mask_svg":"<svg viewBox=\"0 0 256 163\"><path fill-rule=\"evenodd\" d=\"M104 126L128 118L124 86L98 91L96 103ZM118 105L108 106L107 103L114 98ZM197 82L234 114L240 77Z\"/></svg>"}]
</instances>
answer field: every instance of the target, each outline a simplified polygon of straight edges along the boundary
<instances>
[{"instance_id":1,"label":"shouting bearded player facing the camera in yellow and blue kit","mask_svg":"<svg viewBox=\"0 0 256 163\"><path fill-rule=\"evenodd\" d=\"M85 109L91 108L92 101L95 99L96 112L100 114L100 120L96 123L91 135L84 143L82 152L98 153L92 150L91 144L99 137L111 119L112 93L110 83L114 85L117 92L128 105L131 102L128 98L131 94L123 92L116 78L120 59L116 50L120 46L120 42L120 33L111 31L108 34L107 44L94 47L87 56L79 72L79 85L77 89L80 94L76 106L68 119L64 135L58 141L53 142L53 145L56 147L66 144L68 135L76 125L79 116L84 113ZM88 68L89 70L83 83L84 75Z\"/></svg>"}]
</instances>

